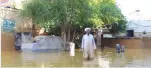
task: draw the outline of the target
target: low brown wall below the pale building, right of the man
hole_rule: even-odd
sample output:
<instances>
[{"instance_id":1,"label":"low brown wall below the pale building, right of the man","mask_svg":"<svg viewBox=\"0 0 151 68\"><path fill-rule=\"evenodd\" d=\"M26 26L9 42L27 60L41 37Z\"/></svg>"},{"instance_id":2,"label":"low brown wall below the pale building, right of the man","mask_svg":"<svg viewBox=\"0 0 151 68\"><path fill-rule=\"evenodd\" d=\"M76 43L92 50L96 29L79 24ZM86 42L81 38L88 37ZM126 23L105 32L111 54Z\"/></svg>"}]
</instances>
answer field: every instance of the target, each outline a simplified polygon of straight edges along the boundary
<instances>
[{"instance_id":1,"label":"low brown wall below the pale building, right of the man","mask_svg":"<svg viewBox=\"0 0 151 68\"><path fill-rule=\"evenodd\" d=\"M142 48L140 38L103 38L101 46L115 47L117 43L124 45L126 48Z\"/></svg>"}]
</instances>

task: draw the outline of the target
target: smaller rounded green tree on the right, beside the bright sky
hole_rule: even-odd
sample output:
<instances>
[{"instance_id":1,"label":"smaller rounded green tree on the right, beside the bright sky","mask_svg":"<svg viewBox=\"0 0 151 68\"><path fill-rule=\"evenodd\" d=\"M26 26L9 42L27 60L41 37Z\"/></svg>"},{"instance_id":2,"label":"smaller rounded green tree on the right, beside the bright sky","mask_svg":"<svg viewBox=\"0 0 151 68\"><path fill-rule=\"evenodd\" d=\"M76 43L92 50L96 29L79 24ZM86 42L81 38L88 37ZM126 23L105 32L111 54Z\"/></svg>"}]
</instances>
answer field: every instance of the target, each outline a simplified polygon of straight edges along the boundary
<instances>
[{"instance_id":1,"label":"smaller rounded green tree on the right, beside the bright sky","mask_svg":"<svg viewBox=\"0 0 151 68\"><path fill-rule=\"evenodd\" d=\"M126 19L114 1L103 0L100 3L99 17L110 33L116 35L126 29Z\"/></svg>"}]
</instances>

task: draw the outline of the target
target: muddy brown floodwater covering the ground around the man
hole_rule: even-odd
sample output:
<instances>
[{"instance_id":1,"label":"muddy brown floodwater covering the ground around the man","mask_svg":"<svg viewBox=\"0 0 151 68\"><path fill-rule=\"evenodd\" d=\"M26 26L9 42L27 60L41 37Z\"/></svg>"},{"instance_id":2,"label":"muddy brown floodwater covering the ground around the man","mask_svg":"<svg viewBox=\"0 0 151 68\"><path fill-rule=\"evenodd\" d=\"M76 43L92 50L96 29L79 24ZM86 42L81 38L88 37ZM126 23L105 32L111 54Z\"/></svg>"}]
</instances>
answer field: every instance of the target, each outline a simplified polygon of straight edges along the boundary
<instances>
[{"instance_id":1,"label":"muddy brown floodwater covering the ground around the man","mask_svg":"<svg viewBox=\"0 0 151 68\"><path fill-rule=\"evenodd\" d=\"M116 53L114 48L97 50L93 61L84 61L81 51L74 57L69 52L2 51L2 67L151 67L150 49L126 49Z\"/></svg>"}]
</instances>

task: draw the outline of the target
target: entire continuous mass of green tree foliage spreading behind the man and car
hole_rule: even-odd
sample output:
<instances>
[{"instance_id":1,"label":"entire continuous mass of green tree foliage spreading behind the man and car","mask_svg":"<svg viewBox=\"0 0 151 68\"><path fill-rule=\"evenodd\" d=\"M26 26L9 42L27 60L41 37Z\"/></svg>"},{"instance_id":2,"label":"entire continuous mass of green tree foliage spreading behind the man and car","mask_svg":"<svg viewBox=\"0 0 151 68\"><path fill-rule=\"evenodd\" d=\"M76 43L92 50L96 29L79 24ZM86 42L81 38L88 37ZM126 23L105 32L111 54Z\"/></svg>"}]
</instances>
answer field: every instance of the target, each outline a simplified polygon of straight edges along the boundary
<instances>
[{"instance_id":1,"label":"entire continuous mass of green tree foliage spreading behind the man and car","mask_svg":"<svg viewBox=\"0 0 151 68\"><path fill-rule=\"evenodd\" d=\"M109 25L114 28L110 32L117 33L124 30L126 22L115 0L28 0L20 13L65 42L81 37L85 27Z\"/></svg>"}]
</instances>

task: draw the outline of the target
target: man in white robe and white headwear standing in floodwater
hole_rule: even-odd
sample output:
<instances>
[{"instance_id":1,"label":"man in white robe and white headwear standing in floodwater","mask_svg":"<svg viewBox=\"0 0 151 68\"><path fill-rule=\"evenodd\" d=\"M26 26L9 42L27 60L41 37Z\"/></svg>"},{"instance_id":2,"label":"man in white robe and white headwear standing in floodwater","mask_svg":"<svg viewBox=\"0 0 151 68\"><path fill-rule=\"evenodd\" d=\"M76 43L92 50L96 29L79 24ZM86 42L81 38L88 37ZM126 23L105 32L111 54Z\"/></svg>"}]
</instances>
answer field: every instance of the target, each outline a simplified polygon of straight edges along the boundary
<instances>
[{"instance_id":1,"label":"man in white robe and white headwear standing in floodwater","mask_svg":"<svg viewBox=\"0 0 151 68\"><path fill-rule=\"evenodd\" d=\"M83 56L85 60L93 60L94 50L96 49L94 37L90 34L91 29L85 28L86 34L83 35L81 48L83 49Z\"/></svg>"}]
</instances>

